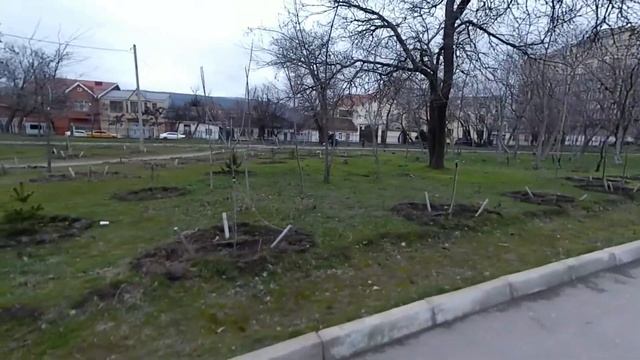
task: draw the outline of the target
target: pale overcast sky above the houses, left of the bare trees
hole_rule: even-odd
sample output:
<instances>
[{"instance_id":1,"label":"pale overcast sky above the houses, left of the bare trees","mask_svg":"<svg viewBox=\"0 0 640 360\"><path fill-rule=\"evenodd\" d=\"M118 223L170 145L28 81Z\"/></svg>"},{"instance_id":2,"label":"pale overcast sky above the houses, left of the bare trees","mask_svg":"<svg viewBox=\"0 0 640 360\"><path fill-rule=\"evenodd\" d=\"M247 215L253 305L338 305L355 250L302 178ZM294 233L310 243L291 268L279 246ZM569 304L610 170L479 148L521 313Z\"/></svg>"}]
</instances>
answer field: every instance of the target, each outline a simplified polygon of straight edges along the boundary
<instances>
[{"instance_id":1,"label":"pale overcast sky above the houses, left of the bare trees","mask_svg":"<svg viewBox=\"0 0 640 360\"><path fill-rule=\"evenodd\" d=\"M244 94L250 27L274 26L283 0L0 0L0 33L57 40L79 35L81 45L138 48L140 86L191 93L204 66L207 92ZM19 41L3 36L2 41ZM47 45L42 45L47 46ZM65 75L114 81L135 87L133 54L73 49L79 62ZM252 73L253 84L273 79L269 70Z\"/></svg>"}]
</instances>

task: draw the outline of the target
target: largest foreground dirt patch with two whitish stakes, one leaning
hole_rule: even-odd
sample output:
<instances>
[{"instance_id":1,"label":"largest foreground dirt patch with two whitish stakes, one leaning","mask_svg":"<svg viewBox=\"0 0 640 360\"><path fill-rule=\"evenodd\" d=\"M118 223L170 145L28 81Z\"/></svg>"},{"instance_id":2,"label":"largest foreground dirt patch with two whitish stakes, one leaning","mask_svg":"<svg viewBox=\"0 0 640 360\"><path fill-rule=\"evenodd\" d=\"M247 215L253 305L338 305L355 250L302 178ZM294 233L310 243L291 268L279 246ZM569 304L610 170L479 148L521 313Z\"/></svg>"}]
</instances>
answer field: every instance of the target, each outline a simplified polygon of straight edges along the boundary
<instances>
[{"instance_id":1,"label":"largest foreground dirt patch with two whitish stakes, one leaning","mask_svg":"<svg viewBox=\"0 0 640 360\"><path fill-rule=\"evenodd\" d=\"M143 275L164 275L169 280L191 276L191 264L216 257L233 261L244 268L269 261L272 256L304 252L314 245L309 234L291 229L275 247L270 245L282 230L263 225L239 223L237 239L224 238L222 226L182 233L179 239L150 250L132 263L132 268ZM214 260L215 261L215 260Z\"/></svg>"}]
</instances>

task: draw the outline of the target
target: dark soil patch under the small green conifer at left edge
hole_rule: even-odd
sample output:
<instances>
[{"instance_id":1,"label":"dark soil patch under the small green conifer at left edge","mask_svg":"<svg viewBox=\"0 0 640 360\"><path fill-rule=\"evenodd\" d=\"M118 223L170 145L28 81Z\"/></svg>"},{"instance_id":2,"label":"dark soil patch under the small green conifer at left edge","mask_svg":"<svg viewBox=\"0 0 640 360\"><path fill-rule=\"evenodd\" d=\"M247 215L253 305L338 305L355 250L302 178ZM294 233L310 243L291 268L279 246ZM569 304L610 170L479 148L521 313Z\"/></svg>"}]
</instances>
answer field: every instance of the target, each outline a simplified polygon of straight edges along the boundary
<instances>
[{"instance_id":1,"label":"dark soil patch under the small green conifer at left edge","mask_svg":"<svg viewBox=\"0 0 640 360\"><path fill-rule=\"evenodd\" d=\"M0 248L31 246L75 237L93 221L71 216L43 216L22 224L0 224Z\"/></svg>"}]
</instances>

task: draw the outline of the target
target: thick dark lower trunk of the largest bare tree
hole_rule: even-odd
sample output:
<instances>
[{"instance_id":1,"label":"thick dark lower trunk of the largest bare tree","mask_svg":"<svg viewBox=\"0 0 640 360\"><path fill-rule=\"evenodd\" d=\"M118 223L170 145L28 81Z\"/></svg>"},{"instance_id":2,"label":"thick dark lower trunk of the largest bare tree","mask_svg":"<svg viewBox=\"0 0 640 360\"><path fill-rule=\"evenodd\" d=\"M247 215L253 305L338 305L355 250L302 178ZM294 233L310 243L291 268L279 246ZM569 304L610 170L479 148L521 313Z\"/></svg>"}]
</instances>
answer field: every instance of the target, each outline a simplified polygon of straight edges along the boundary
<instances>
[{"instance_id":1,"label":"thick dark lower trunk of the largest bare tree","mask_svg":"<svg viewBox=\"0 0 640 360\"><path fill-rule=\"evenodd\" d=\"M447 142L447 100L437 94L429 101L429 167L444 168Z\"/></svg>"}]
</instances>

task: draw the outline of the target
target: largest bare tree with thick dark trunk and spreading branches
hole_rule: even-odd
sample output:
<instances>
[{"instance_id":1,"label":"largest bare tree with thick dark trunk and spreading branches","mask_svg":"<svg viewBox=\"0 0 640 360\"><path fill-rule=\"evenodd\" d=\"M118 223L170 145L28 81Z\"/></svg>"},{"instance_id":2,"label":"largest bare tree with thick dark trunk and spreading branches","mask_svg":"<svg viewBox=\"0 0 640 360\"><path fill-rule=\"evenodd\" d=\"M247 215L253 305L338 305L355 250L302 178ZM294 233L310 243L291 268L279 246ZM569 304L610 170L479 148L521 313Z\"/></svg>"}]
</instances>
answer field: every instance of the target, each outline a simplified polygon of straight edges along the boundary
<instances>
[{"instance_id":1,"label":"largest bare tree with thick dark trunk and spreading branches","mask_svg":"<svg viewBox=\"0 0 640 360\"><path fill-rule=\"evenodd\" d=\"M500 0L332 0L330 5L344 9L342 28L370 71L411 72L427 81L429 166L438 169L444 167L456 58L478 61L478 44L490 43L529 52L576 11L561 1L535 7ZM503 31L506 27L511 31Z\"/></svg>"}]
</instances>

